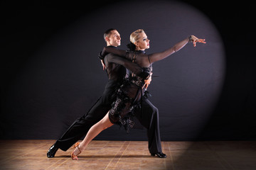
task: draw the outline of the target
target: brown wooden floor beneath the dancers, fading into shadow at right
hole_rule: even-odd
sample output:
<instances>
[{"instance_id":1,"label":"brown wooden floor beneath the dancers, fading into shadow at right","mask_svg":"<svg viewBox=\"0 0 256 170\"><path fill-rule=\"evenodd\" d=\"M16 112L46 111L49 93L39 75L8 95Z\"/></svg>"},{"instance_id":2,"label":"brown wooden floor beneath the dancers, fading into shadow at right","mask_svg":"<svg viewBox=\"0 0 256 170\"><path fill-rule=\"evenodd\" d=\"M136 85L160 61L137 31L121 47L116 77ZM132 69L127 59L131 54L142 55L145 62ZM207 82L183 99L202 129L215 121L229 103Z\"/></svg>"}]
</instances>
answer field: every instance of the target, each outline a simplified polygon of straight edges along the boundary
<instances>
[{"instance_id":1,"label":"brown wooden floor beneath the dancers, fading into shadow at right","mask_svg":"<svg viewBox=\"0 0 256 170\"><path fill-rule=\"evenodd\" d=\"M93 140L72 160L59 150L46 152L54 140L0 140L0 169L175 169L255 170L256 142L162 142L166 159L151 157L147 142Z\"/></svg>"}]
</instances>

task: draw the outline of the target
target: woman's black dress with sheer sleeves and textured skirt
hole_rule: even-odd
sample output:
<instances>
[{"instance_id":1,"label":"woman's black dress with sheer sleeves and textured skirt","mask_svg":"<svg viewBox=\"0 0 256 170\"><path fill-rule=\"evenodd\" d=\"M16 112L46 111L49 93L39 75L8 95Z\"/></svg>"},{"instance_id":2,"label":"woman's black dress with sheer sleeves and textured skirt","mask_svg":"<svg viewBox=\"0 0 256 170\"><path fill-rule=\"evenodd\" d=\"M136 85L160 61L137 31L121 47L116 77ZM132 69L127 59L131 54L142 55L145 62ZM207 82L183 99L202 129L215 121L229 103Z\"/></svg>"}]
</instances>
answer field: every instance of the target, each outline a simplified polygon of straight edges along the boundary
<instances>
[{"instance_id":1,"label":"woman's black dress with sheer sleeves and textured skirt","mask_svg":"<svg viewBox=\"0 0 256 170\"><path fill-rule=\"evenodd\" d=\"M152 72L152 63L159 60L163 60L169 55L181 50L189 41L189 38L178 42L173 47L164 50L163 52L156 52L150 55L142 50L140 51L127 51L117 50L110 47L104 47L101 52L102 57L111 53L110 55L118 55L119 57L125 57L132 62L136 62L142 67L144 72ZM138 77L129 72L128 76L124 80L124 84L117 91L117 100L112 104L112 108L109 112L109 118L111 123L124 126L124 129L132 127L134 122L132 121L133 111L135 107L140 107L142 96L144 95L144 79Z\"/></svg>"}]
</instances>

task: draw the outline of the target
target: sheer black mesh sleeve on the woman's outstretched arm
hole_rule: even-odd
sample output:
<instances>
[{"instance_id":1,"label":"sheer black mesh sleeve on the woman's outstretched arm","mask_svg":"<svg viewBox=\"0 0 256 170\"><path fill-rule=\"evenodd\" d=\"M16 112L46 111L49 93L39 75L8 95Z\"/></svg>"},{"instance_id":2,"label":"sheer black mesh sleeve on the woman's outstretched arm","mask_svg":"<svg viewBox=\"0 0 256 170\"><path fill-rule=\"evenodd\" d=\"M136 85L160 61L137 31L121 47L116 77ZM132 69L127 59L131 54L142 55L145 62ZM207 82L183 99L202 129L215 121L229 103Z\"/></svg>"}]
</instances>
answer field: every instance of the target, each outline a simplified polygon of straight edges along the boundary
<instances>
[{"instance_id":1,"label":"sheer black mesh sleeve on the woman's outstretched arm","mask_svg":"<svg viewBox=\"0 0 256 170\"><path fill-rule=\"evenodd\" d=\"M182 40L181 42L176 43L174 47L171 47L164 52L156 52L151 55L149 55L149 60L151 63L157 62L159 60L163 60L166 57L169 57L169 55L172 55L174 52L177 52L178 50L181 50L187 43L189 39L186 38L185 40Z\"/></svg>"}]
</instances>

